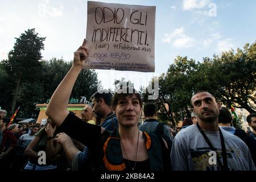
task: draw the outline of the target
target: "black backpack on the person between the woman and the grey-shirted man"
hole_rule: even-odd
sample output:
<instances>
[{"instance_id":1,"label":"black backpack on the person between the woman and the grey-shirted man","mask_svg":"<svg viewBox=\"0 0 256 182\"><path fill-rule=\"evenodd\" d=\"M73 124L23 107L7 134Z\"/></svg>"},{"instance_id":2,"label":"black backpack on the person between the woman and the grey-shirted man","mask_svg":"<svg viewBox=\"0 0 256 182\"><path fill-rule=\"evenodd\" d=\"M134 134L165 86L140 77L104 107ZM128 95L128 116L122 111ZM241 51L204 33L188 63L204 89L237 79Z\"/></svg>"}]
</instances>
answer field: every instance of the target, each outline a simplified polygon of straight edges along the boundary
<instances>
[{"instance_id":1,"label":"black backpack on the person between the woman and the grey-shirted man","mask_svg":"<svg viewBox=\"0 0 256 182\"><path fill-rule=\"evenodd\" d=\"M171 170L170 155L171 155L172 141L170 140L170 138L164 135L163 130L164 130L164 123L158 123L158 126L156 126L154 133L158 137L158 140L162 146L162 159L163 159L164 171L170 171ZM166 141L166 143L163 141L163 139ZM166 144L168 148L166 147Z\"/></svg>"}]
</instances>

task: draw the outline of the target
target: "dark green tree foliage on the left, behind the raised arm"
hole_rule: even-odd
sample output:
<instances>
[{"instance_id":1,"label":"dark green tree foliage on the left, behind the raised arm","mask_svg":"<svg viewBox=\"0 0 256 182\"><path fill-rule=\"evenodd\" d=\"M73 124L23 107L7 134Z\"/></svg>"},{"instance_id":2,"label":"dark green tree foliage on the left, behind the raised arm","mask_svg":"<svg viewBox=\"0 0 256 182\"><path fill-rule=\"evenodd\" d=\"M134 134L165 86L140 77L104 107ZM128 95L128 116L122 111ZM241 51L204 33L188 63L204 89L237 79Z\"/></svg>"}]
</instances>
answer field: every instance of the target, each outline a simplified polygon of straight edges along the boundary
<instances>
[{"instance_id":1,"label":"dark green tree foliage on the left, behind the raised arm","mask_svg":"<svg viewBox=\"0 0 256 182\"><path fill-rule=\"evenodd\" d=\"M20 106L22 113L32 115L36 104L46 103L72 66L63 59L42 60L43 41L35 29L29 29L16 38L9 59L0 62L0 106L9 111ZM97 73L81 71L71 97L89 98L97 91ZM16 98L15 97L16 94ZM14 101L15 100L15 104ZM14 104L12 107L11 105Z\"/></svg>"}]
</instances>

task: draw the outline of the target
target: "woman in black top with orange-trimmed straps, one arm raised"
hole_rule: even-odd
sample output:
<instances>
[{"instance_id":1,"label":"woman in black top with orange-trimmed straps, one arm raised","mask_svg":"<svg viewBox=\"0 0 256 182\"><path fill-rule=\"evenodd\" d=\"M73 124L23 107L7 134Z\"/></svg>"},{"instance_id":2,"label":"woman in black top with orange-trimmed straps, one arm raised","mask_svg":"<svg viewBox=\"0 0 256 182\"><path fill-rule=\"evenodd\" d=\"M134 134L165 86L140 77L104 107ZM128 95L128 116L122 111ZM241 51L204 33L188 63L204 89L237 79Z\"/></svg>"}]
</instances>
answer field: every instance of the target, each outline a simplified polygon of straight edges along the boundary
<instances>
[{"instance_id":1,"label":"woman in black top with orange-trimmed straps, one arm raised","mask_svg":"<svg viewBox=\"0 0 256 182\"><path fill-rule=\"evenodd\" d=\"M135 89L127 87L115 93L112 108L117 114L119 127L113 133L82 122L67 110L73 85L82 70L82 61L89 53L85 42L74 53L71 69L53 93L47 115L59 126L60 131L88 146L96 170L163 170L162 146L158 137L138 130L142 100ZM58 136L55 140L61 143Z\"/></svg>"}]
</instances>

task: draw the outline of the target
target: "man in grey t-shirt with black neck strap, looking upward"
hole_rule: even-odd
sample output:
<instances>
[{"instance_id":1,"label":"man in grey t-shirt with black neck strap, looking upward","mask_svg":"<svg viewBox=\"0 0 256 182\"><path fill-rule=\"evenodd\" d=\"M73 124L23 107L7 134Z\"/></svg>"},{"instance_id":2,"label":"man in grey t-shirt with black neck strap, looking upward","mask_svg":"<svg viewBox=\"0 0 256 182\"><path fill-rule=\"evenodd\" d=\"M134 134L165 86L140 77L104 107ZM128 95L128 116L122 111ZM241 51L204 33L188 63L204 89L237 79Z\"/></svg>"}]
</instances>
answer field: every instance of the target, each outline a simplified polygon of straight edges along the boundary
<instances>
[{"instance_id":1,"label":"man in grey t-shirt with black neck strap, looking upward","mask_svg":"<svg viewBox=\"0 0 256 182\"><path fill-rule=\"evenodd\" d=\"M200 91L191 98L198 117L196 125L178 133L171 151L174 170L255 170L246 144L218 127L220 104L212 94Z\"/></svg>"}]
</instances>

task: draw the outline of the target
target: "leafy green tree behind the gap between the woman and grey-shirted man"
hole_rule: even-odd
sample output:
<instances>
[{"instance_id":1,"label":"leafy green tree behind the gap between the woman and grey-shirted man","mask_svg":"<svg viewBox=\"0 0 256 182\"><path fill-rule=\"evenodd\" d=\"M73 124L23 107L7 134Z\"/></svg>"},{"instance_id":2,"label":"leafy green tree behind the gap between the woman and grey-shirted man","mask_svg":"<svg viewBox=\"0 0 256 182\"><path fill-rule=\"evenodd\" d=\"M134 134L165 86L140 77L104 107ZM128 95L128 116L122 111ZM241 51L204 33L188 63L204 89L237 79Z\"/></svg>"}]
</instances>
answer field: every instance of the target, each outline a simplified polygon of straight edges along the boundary
<instances>
[{"instance_id":1,"label":"leafy green tree behind the gap between the woman and grey-shirted man","mask_svg":"<svg viewBox=\"0 0 256 182\"><path fill-rule=\"evenodd\" d=\"M158 118L162 122L171 121L173 127L191 114L193 72L197 69L195 60L177 56L166 74L159 77L159 97L153 101L159 109ZM154 82L154 79L152 79ZM147 98L144 94L143 98Z\"/></svg>"}]
</instances>

